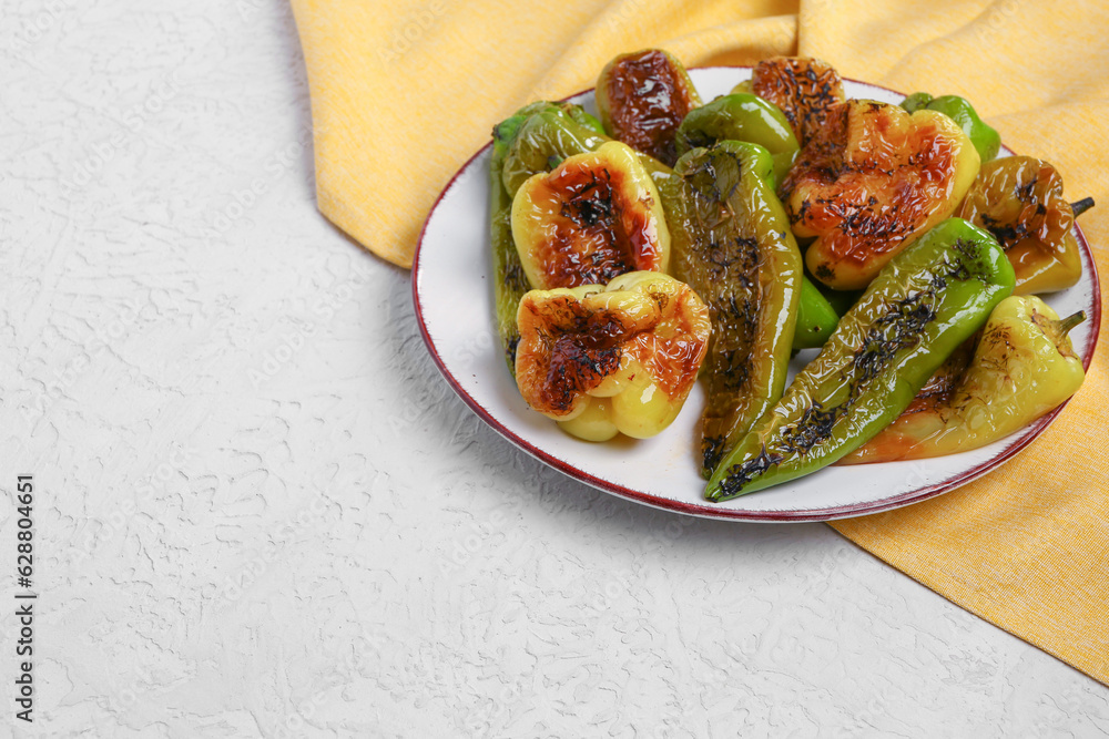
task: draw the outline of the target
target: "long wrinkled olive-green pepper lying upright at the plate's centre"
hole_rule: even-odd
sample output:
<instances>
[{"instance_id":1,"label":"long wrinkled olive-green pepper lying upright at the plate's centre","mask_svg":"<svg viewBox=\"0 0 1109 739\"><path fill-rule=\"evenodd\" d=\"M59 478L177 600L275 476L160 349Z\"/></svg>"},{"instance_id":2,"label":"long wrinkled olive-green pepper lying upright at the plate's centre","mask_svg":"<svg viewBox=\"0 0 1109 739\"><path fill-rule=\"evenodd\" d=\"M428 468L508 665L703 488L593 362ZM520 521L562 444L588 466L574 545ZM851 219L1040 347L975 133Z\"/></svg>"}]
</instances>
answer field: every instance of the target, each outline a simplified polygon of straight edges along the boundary
<instances>
[{"instance_id":1,"label":"long wrinkled olive-green pepper lying upright at the plate's centre","mask_svg":"<svg viewBox=\"0 0 1109 739\"><path fill-rule=\"evenodd\" d=\"M724 141L682 155L672 269L709 305L702 471L782 396L801 292L801 255L770 183L770 153Z\"/></svg>"}]
</instances>

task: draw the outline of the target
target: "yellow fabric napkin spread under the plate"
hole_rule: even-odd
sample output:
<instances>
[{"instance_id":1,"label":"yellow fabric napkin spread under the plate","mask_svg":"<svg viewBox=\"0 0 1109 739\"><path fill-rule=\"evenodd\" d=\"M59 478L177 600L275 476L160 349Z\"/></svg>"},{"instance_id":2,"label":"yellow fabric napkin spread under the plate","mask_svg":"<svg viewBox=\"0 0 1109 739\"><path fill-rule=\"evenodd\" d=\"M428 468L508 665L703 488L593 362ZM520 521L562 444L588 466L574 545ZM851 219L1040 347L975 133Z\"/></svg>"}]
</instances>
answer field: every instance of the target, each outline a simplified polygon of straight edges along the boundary
<instances>
[{"instance_id":1,"label":"yellow fabric napkin spread under the plate","mask_svg":"<svg viewBox=\"0 0 1109 739\"><path fill-rule=\"evenodd\" d=\"M590 88L613 55L688 65L811 54L842 74L969 97L1017 152L1055 163L1109 276L1109 7L1099 0L293 0L319 208L410 266L438 192L494 123ZM980 481L834 524L947 598L1109 684L1109 342L1050 430Z\"/></svg>"}]
</instances>

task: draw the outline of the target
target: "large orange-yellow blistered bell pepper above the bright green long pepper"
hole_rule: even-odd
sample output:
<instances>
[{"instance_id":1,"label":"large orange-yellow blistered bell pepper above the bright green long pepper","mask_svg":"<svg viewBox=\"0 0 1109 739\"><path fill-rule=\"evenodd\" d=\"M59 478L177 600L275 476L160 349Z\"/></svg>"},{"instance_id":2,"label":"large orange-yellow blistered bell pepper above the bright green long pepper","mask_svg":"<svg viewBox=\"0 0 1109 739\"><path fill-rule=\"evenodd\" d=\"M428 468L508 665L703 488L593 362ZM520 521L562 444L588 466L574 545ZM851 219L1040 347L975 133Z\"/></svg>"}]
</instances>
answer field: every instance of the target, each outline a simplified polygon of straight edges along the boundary
<instances>
[{"instance_id":1,"label":"large orange-yellow blistered bell pepper above the bright green long pepper","mask_svg":"<svg viewBox=\"0 0 1109 739\"><path fill-rule=\"evenodd\" d=\"M950 216L978 174L978 152L936 111L848 100L801 150L782 184L793 233L816 237L808 270L851 290Z\"/></svg>"}]
</instances>

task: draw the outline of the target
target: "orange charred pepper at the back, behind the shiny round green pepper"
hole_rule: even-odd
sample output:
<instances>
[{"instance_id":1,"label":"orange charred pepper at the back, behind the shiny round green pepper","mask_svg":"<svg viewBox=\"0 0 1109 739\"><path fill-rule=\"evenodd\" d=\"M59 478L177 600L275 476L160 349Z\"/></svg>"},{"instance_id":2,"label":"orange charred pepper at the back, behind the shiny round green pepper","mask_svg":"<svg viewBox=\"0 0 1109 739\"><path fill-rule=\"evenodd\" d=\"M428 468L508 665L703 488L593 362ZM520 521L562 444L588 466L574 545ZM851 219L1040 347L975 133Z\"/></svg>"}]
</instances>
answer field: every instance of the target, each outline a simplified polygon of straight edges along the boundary
<instances>
[{"instance_id":1,"label":"orange charred pepper at the back, behind the shiny round green pepper","mask_svg":"<svg viewBox=\"0 0 1109 739\"><path fill-rule=\"evenodd\" d=\"M804 146L824 127L828 111L842 103L843 80L831 64L807 57L774 57L759 62L751 79L732 90L776 105Z\"/></svg>"}]
</instances>

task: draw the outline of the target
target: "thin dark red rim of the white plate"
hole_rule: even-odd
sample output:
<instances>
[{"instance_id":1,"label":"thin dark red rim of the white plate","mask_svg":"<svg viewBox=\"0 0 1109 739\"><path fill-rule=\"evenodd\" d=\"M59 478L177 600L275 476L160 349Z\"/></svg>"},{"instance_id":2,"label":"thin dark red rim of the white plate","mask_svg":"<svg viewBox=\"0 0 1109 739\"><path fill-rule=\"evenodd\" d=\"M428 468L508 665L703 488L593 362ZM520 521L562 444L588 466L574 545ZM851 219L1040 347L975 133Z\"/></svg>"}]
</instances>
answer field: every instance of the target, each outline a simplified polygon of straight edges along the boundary
<instances>
[{"instance_id":1,"label":"thin dark red rim of the white plate","mask_svg":"<svg viewBox=\"0 0 1109 739\"><path fill-rule=\"evenodd\" d=\"M742 70L752 68L751 66L701 66L691 69ZM858 80L848 80L847 78L845 78L845 80L854 82L856 84L868 85L872 88L886 90L894 94L904 95L904 93L902 92L892 90L889 88L884 88L882 85L874 84L872 82L861 82ZM579 95L592 92L593 90L594 90L593 88L590 88L589 90L582 90L581 92L563 97L562 100L563 101L572 100L574 97L578 97ZM477 413L478 417L482 421L488 423L497 433L499 433L501 437L503 437L518 448L528 452L529 454L542 461L543 463L554 468L556 470L576 480L584 482L588 485L591 485L599 490L603 490L608 493L612 493L613 495L618 495L620 497L624 497L627 500L634 501L637 503L642 503L644 505L649 505L652 507L663 509L667 511L674 511L678 513L684 513L689 515L709 517L709 519L724 519L730 521L747 521L747 522L801 523L806 521L833 521L836 519L869 515L874 513L882 513L885 511L892 511L894 509L904 507L906 505L912 505L913 503L919 503L920 501L926 501L929 497L942 495L943 493L955 490L956 487L962 487L963 485L983 476L987 472L990 472L1001 466L1001 464L1004 464L1005 462L1010 460L1014 455L1016 455L1017 452L1019 452L1025 447L1035 441L1044 432L1044 430L1047 429L1048 425L1050 425L1051 421L1055 420L1055 418L1062 411L1062 409L1067 407L1067 403L1070 402L1069 400L1065 401L1061 406L1059 406L1051 412L1040 417L1039 419L1030 423L1028 427L1025 427L1025 429L1020 432L1019 439L1014 441L1011 444L1006 447L1004 450L1001 450L998 454L990 458L988 461L983 462L981 464L977 464L970 468L969 470L966 470L952 478L948 478L943 482L938 482L925 487L918 487L907 493L901 493L892 497L886 497L869 503L847 504L828 509L796 509L786 511L734 511L719 505L710 505L710 504L696 505L691 503L683 503L680 501L673 501L665 497L659 497L655 495L643 493L638 490L632 490L631 487L624 487L623 485L610 482L608 480L596 478L589 474L588 472L583 472L582 470L573 466L572 464L569 464L568 462L560 460L556 456L552 456L542 449L539 449L538 447L531 444L530 442L526 441L525 439L520 438L512 431L505 428L505 425L502 425L500 421L494 418L494 415L484 406L481 406L472 397L470 397L470 394L462 388L462 386L458 382L458 380L456 380L455 377L450 373L450 370L447 369L446 363L442 361L442 358L439 356L439 352L436 349L435 342L431 340L431 336L427 330L427 325L424 322L424 309L420 302L420 294L419 294L419 269L420 269L419 257L424 247L424 236L427 233L427 227L431 223L433 217L435 216L436 208L439 207L439 202L444 198L444 196L446 196L448 192L450 192L450 188L454 187L455 181L458 179L458 177L464 172L466 172L466 170L470 166L474 160L481 156L486 152L486 150L490 148L491 146L492 146L491 143L486 144L485 146L479 148L472 156L470 156L470 158L468 158L466 163L462 164L461 167L459 167L458 172L456 172L455 175L450 178L450 182L447 183L447 186L444 187L442 192L439 193L439 196L436 198L435 204L431 206L431 211L428 213L427 220L424 222L424 227L420 229L419 240L416 244L416 254L413 257L411 285L413 285L413 304L416 308L416 320L419 324L420 336L424 337L424 343L427 346L427 349L431 355L431 359L435 362L435 366L439 369L439 372L442 374L444 379L447 380L447 384L449 384L450 388L455 391L455 393L462 399L462 402L465 402L467 406L470 407L470 410ZM1008 150L1008 147L1006 148L1010 153L1013 152L1013 150ZM1075 224L1075 232L1077 234L1078 245L1081 250L1082 267L1083 269L1086 269L1086 274L1090 276L1093 288L1092 306L1091 306L1091 312L1093 315L1090 317L1090 331L1086 340L1086 351L1082 357L1082 367L1086 370L1089 370L1090 361L1092 361L1093 359L1093 350L1097 348L1098 335L1101 332L1101 299L1100 299L1101 281L1098 277L1097 265L1093 261L1093 254L1090 252L1090 246L1086 240L1086 235L1082 233L1081 227L1079 227L1077 223Z\"/></svg>"}]
</instances>

